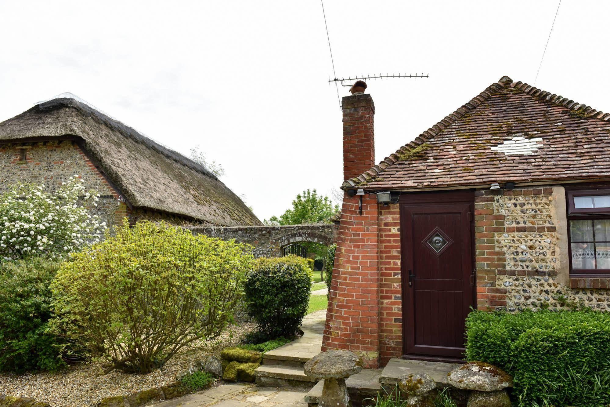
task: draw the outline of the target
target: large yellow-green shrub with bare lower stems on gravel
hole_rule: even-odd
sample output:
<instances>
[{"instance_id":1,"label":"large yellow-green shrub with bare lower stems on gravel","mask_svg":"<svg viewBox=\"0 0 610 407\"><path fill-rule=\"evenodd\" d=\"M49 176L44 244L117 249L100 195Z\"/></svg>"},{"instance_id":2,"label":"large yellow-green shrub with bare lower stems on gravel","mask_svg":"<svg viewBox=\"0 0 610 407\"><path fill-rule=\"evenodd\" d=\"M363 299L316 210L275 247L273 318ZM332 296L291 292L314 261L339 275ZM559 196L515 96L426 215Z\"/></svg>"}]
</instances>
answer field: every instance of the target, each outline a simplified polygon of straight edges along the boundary
<instances>
[{"instance_id":1,"label":"large yellow-green shrub with bare lower stems on gravel","mask_svg":"<svg viewBox=\"0 0 610 407\"><path fill-rule=\"evenodd\" d=\"M253 256L248 245L161 222L127 221L73 254L52 284L52 328L110 362L150 372L232 319Z\"/></svg>"}]
</instances>

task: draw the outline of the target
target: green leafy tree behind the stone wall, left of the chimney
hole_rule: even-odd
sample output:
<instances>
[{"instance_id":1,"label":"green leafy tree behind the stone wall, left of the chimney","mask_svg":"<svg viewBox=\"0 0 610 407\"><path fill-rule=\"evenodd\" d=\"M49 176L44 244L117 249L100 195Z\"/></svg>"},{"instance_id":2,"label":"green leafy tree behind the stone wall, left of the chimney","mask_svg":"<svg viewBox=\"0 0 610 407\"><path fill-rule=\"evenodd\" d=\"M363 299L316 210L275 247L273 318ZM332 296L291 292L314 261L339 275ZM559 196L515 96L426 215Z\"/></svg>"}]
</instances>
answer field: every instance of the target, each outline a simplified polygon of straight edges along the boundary
<instances>
[{"instance_id":1,"label":"green leafy tree behind the stone wall, left of the chimney","mask_svg":"<svg viewBox=\"0 0 610 407\"><path fill-rule=\"evenodd\" d=\"M328 196L318 195L317 191L307 190L296 195L292 209L279 217L272 216L265 220L266 225L301 225L303 223L330 223L332 215L339 211L339 205L333 204Z\"/></svg>"}]
</instances>

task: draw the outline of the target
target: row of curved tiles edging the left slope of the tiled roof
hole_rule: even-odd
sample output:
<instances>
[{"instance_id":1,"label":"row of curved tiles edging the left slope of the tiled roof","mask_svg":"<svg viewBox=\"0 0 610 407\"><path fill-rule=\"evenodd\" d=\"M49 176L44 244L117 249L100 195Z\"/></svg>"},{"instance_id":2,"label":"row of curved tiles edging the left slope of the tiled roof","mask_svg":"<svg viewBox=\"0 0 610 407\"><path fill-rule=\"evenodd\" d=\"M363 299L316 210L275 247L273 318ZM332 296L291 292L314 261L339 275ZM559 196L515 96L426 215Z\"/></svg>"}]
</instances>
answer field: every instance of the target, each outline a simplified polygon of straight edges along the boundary
<instances>
[{"instance_id":1,"label":"row of curved tiles edging the left slope of the tiled roof","mask_svg":"<svg viewBox=\"0 0 610 407\"><path fill-rule=\"evenodd\" d=\"M434 124L434 126L432 126L428 130L422 132L422 134L415 137L415 140L413 140L410 143L407 143L406 145L399 148L395 153L390 154L390 156L384 158L381 162L379 162L378 165L375 165L375 167L370 168L370 170L365 171L364 173L362 173L361 175L359 175L357 177L350 178L346 181L343 181L343 185L341 185L341 188L350 189L350 188L355 187L358 184L361 184L362 182L367 182L368 179L371 179L371 178L377 176L379 173L381 173L383 170L385 170L390 165L394 164L395 162L400 161L398 154L408 153L409 151L412 151L413 149L417 148L418 146L422 145L423 143L429 142L429 140L434 138L434 136L439 134L439 132L441 132L443 129L447 128L447 126L450 126L456 120L459 120L460 118L464 117L464 115L466 113L470 112L470 110L475 109L477 106L479 106L481 103L483 103L487 98L489 98L489 96L493 95L494 93L498 92L498 90L500 90L510 84L512 84L512 79L510 77L508 77L508 76L501 77L500 81L498 81L494 84L491 84L489 87L486 88L486 90L479 93L479 95L475 96L473 99L471 99L470 101L468 101L467 103L465 103L464 105L459 107L455 112L451 113L450 115L445 117L443 120Z\"/></svg>"}]
</instances>

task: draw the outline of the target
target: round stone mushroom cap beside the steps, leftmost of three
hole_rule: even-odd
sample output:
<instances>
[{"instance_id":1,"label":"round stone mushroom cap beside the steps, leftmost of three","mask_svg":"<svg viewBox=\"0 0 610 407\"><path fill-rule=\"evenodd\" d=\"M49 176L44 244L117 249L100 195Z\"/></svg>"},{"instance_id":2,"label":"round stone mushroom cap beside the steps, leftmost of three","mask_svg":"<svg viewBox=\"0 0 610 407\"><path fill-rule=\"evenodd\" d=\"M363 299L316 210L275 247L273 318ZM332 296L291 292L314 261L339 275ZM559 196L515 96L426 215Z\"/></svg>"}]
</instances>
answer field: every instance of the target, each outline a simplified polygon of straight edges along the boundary
<instances>
[{"instance_id":1,"label":"round stone mushroom cap beside the steps, leftmost of three","mask_svg":"<svg viewBox=\"0 0 610 407\"><path fill-rule=\"evenodd\" d=\"M309 359L303 370L317 379L342 379L362 370L362 358L348 350L329 350Z\"/></svg>"}]
</instances>

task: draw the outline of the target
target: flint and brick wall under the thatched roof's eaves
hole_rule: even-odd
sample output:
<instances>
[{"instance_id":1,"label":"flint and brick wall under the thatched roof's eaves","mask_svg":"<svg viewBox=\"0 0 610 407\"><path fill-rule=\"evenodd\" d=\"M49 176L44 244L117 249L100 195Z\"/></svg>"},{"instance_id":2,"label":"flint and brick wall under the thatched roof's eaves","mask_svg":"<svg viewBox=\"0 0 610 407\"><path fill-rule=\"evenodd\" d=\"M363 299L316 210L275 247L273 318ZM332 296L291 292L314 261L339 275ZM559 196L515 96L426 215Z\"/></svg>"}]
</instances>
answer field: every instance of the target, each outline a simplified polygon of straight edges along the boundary
<instances>
[{"instance_id":1,"label":"flint and brick wall under the thatched roof's eaves","mask_svg":"<svg viewBox=\"0 0 610 407\"><path fill-rule=\"evenodd\" d=\"M25 160L20 159L22 149ZM100 222L110 226L129 215L118 192L76 143L65 140L0 145L0 192L26 182L45 184L51 192L73 175L85 181L85 189L101 195L98 206L90 208L92 214L99 215Z\"/></svg>"}]
</instances>

